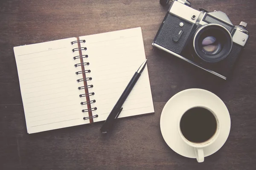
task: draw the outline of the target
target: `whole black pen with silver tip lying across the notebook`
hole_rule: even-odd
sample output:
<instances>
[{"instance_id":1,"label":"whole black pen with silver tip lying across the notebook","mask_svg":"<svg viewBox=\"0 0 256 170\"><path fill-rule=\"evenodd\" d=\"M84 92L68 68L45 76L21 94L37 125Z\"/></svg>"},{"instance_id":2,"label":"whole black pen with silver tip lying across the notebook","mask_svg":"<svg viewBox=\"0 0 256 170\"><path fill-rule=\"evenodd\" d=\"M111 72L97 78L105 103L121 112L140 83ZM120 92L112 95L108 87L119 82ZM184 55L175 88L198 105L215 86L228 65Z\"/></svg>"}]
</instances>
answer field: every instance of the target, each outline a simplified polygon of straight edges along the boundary
<instances>
[{"instance_id":1,"label":"whole black pen with silver tip lying across the notebook","mask_svg":"<svg viewBox=\"0 0 256 170\"><path fill-rule=\"evenodd\" d=\"M119 114L122 111L122 105L124 104L126 98L130 94L130 92L131 92L132 88L134 87L134 85L136 84L137 80L140 78L140 75L142 74L142 72L146 66L147 60L148 59L146 59L142 63L142 65L140 65L140 68L135 72L134 76L131 78L131 80L128 83L128 85L126 86L124 92L122 93L122 95L120 96L118 101L116 102L116 105L114 106L112 111L109 113L108 118L104 122L102 128L99 130L101 133L107 133L108 130L111 130L111 127L113 126L114 122L116 121L116 119L118 118Z\"/></svg>"}]
</instances>

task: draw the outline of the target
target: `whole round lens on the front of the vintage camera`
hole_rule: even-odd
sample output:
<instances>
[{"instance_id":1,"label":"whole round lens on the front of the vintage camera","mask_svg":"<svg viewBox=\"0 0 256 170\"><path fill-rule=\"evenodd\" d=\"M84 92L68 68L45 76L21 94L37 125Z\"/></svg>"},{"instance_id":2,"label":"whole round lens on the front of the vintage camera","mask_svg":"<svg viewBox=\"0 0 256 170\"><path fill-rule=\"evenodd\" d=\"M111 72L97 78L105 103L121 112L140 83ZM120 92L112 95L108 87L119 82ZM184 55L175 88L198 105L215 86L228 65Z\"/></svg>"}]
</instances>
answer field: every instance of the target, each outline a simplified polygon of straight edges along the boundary
<instances>
[{"instance_id":1,"label":"whole round lens on the front of the vintage camera","mask_svg":"<svg viewBox=\"0 0 256 170\"><path fill-rule=\"evenodd\" d=\"M225 27L207 24L195 32L193 43L198 57L206 62L219 62L230 53L233 41Z\"/></svg>"}]
</instances>

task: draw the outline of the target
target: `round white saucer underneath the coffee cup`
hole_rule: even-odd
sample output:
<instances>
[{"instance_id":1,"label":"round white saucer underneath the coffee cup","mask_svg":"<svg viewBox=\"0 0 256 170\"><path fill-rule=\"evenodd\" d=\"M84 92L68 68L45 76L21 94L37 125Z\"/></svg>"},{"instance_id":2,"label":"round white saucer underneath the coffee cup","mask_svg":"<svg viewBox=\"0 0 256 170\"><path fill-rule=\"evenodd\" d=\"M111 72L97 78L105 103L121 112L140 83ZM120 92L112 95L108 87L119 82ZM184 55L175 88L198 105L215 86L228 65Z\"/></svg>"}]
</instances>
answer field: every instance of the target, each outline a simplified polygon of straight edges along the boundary
<instances>
[{"instance_id":1,"label":"round white saucer underneath the coffee cup","mask_svg":"<svg viewBox=\"0 0 256 170\"><path fill-rule=\"evenodd\" d=\"M202 106L212 110L221 124L221 131L214 143L204 147L204 156L212 155L217 152L227 141L230 133L230 114L224 102L212 92L192 88L181 91L166 103L160 118L160 128L165 142L176 153L188 157L195 158L194 147L186 144L180 137L178 132L179 118L189 108Z\"/></svg>"}]
</instances>

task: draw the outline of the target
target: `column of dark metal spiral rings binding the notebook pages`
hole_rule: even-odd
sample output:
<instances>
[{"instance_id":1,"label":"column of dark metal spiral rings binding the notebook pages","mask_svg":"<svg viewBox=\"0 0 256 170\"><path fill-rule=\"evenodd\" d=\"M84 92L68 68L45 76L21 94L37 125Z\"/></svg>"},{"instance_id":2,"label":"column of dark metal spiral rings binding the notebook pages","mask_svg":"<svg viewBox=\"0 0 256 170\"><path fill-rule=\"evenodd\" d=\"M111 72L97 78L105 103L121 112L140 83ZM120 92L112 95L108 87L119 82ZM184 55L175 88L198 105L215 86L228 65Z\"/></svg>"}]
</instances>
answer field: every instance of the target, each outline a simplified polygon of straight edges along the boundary
<instances>
[{"instance_id":1,"label":"column of dark metal spiral rings binding the notebook pages","mask_svg":"<svg viewBox=\"0 0 256 170\"><path fill-rule=\"evenodd\" d=\"M87 50L87 48L86 47L80 47L80 43L85 43L85 40L77 40L77 41L72 41L71 42L71 44L73 45L74 43L78 43L78 46L79 46L79 48L74 48L74 49L72 49L72 51L73 52L75 52L75 51L79 51L79 55L78 56L75 56L75 57L73 57L73 59L74 60L76 60L76 59L80 59L80 61L81 61L81 63L78 63L78 64L75 64L74 66L75 67L79 67L79 66L81 66L82 67L82 71L77 71L76 72L76 74L78 75L78 74L86 74L86 73L90 73L91 71L90 70L84 70L84 66L86 66L86 65L89 65L90 63L89 62L82 62L83 61L83 58L88 58L88 55L87 54L84 54L84 55L82 55L81 54L81 51L86 51ZM84 77L84 76L83 76ZM91 77L86 77L86 78L82 78L82 79L77 79L76 81L77 82L85 82L85 81L89 81L89 80L92 80L92 78ZM93 85L87 85L87 84L84 84L84 86L80 86L80 87L78 87L78 89L79 90L82 90L82 89L88 89L88 88L93 88ZM93 96L95 93L94 92L92 92L92 93L87 93L87 91L85 91L85 94L80 94L79 95L79 97L88 97L88 96ZM89 98L87 98L87 99L89 99ZM81 102L80 104L81 105L87 105L87 104L92 104L92 103L95 103L96 102L96 100L90 100L90 101L86 101L86 102ZM96 111L97 110L97 108L96 107L94 107L94 108L88 108L88 109L83 109L82 110L82 112L84 113L84 112L89 112L89 116L88 117L83 117L83 119L84 120L86 120L86 119L93 119L93 118L97 118L98 117L98 115L96 114L96 115L94 115L94 116L90 116L90 115L92 115L91 114L91 112L92 111Z\"/></svg>"}]
</instances>

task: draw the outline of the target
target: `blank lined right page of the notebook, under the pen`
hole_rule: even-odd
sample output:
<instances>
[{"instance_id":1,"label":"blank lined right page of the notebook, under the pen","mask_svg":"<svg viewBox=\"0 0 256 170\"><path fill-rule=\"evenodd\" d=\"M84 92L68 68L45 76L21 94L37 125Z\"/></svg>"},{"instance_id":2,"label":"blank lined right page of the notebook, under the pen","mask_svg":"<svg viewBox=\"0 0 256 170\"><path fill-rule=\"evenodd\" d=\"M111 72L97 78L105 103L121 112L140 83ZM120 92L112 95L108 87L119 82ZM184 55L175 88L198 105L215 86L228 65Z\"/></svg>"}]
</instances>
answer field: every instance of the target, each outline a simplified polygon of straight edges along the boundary
<instances>
[{"instance_id":1,"label":"blank lined right page of the notebook, under the pen","mask_svg":"<svg viewBox=\"0 0 256 170\"><path fill-rule=\"evenodd\" d=\"M83 54L88 55L87 68L91 72L87 76L92 77L88 84L93 85L88 90L95 93L90 96L90 100L96 100L91 104L97 108L93 115L99 115L93 122L99 122L107 119L131 77L145 61L142 31L132 28L79 38L86 40L82 45L87 51ZM147 67L122 107L119 118L154 112Z\"/></svg>"}]
</instances>

